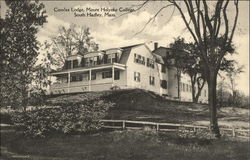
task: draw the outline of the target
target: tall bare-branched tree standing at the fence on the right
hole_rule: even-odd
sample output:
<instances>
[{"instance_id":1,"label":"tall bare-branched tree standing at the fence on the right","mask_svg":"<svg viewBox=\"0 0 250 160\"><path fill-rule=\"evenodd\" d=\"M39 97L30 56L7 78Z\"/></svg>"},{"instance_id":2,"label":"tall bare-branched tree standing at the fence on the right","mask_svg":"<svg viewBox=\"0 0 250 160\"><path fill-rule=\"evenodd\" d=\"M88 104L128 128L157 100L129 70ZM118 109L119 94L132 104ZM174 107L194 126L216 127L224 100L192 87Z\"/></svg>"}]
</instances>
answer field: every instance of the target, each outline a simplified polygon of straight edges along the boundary
<instances>
[{"instance_id":1,"label":"tall bare-branched tree standing at the fence on the right","mask_svg":"<svg viewBox=\"0 0 250 160\"><path fill-rule=\"evenodd\" d=\"M170 6L177 8L179 11L187 30L198 45L200 51L199 58L204 63L205 79L208 82L210 129L211 133L219 138L221 135L218 126L216 105L217 76L225 56L228 53L232 53L231 44L238 21L239 1L211 1L209 2L211 6L209 6L206 0L184 0L183 2L167 0L167 2L168 4L163 5L148 20L146 25L150 21L154 21L155 17L162 10ZM137 8L134 9L134 12L142 9L147 3L149 3L149 0L143 2L141 5L136 5ZM182 6L181 4L184 5ZM230 19L228 19L229 5L235 8L235 14L234 16L231 15ZM187 14L184 13L185 11L187 11Z\"/></svg>"}]
</instances>

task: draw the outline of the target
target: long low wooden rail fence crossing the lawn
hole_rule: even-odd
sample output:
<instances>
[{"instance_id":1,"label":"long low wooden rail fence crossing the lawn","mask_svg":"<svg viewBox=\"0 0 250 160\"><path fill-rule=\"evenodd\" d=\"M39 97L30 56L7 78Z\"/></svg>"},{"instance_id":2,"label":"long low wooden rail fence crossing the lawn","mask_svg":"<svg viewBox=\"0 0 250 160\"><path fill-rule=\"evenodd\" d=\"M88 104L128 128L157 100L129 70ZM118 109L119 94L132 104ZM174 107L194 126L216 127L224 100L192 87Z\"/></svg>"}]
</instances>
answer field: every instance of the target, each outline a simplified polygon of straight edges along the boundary
<instances>
[{"instance_id":1,"label":"long low wooden rail fence crossing the lawn","mask_svg":"<svg viewBox=\"0 0 250 160\"><path fill-rule=\"evenodd\" d=\"M189 124L176 124L176 123L158 123L147 121L131 121L131 120L101 120L103 128L110 129L155 129L156 131L189 131L197 132L197 129L209 129L208 126L198 126ZM238 138L250 138L249 129L236 129L236 128L220 128L222 132L227 132L227 135Z\"/></svg>"}]
</instances>

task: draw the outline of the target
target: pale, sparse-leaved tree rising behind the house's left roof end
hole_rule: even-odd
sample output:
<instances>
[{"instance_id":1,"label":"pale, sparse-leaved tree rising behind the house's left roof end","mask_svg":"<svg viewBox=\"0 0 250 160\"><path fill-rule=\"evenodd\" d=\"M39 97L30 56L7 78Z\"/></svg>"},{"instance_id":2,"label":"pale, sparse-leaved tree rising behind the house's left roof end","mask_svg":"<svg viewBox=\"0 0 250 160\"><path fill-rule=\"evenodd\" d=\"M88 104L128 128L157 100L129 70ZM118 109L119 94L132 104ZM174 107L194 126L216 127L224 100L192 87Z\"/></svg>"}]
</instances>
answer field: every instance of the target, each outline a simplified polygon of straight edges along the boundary
<instances>
[{"instance_id":1,"label":"pale, sparse-leaved tree rising behind the house's left roof end","mask_svg":"<svg viewBox=\"0 0 250 160\"><path fill-rule=\"evenodd\" d=\"M49 60L57 68L65 64L65 59L69 55L98 50L98 44L90 36L90 29L75 24L71 24L69 28L60 26L58 35L53 36L50 41L45 41L44 46L50 52L47 55Z\"/></svg>"}]
</instances>

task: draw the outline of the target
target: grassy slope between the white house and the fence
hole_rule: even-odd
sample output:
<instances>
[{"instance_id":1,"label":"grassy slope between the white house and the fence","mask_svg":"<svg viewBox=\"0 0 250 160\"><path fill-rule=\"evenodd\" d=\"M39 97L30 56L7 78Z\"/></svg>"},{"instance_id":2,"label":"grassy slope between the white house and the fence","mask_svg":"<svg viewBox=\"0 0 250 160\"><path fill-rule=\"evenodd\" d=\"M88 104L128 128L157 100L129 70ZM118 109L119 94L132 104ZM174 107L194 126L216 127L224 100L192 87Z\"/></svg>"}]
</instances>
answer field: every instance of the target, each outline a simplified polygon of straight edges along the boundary
<instances>
[{"instance_id":1,"label":"grassy slope between the white house and the fence","mask_svg":"<svg viewBox=\"0 0 250 160\"><path fill-rule=\"evenodd\" d=\"M209 110L207 105L167 100L152 92L140 89L53 96L48 99L48 103L60 104L96 98L102 98L116 104L116 107L109 111L106 119L197 125L203 125L203 122L205 122L204 125L209 124ZM235 127L248 128L248 125L245 124L249 122L249 112L241 113L233 110L221 109L218 111L218 118L219 124L222 122L221 124L223 126L235 124ZM245 123L241 124L241 122Z\"/></svg>"}]
</instances>

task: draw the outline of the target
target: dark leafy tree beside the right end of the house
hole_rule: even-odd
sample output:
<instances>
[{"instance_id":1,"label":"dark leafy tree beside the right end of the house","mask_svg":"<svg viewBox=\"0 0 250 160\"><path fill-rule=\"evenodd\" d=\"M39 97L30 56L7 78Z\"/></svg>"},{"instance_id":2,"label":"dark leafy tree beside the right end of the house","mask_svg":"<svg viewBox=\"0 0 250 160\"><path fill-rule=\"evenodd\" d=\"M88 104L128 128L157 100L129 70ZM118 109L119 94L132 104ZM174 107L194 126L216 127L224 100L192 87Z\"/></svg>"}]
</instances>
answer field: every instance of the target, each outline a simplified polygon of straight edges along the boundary
<instances>
[{"instance_id":1,"label":"dark leafy tree beside the right end of the house","mask_svg":"<svg viewBox=\"0 0 250 160\"><path fill-rule=\"evenodd\" d=\"M178 37L170 44L170 48L173 50L173 53L168 55L167 59L174 59L174 66L177 68L177 77L179 77L178 80L180 80L181 72L187 73L190 76L192 100L193 102L198 102L206 81L203 76L204 69L202 63L196 53L198 52L196 45L186 43L184 38ZM195 86L197 86L197 90ZM179 89L178 92L180 92Z\"/></svg>"}]
</instances>

